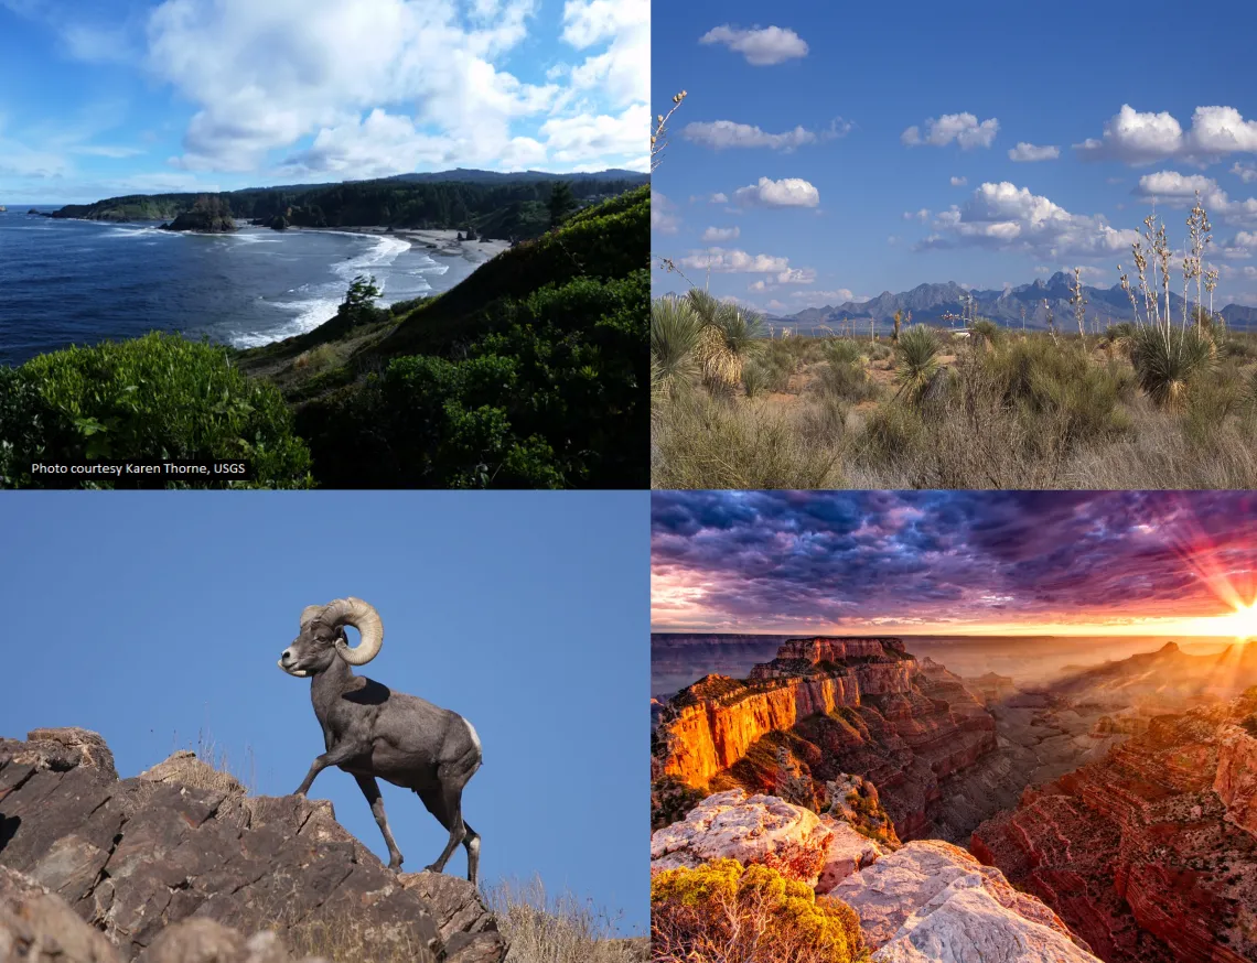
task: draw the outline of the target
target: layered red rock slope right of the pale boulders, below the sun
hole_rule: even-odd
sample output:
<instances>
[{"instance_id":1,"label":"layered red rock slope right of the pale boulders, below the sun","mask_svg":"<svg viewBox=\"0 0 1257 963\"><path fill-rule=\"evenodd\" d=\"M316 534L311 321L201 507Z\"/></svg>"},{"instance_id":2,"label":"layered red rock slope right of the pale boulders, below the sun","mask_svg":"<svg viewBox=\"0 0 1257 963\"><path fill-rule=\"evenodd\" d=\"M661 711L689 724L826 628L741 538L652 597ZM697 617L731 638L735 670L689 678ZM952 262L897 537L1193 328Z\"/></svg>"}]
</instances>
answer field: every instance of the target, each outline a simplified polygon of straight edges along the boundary
<instances>
[{"instance_id":1,"label":"layered red rock slope right of the pale boulders, below the sun","mask_svg":"<svg viewBox=\"0 0 1257 963\"><path fill-rule=\"evenodd\" d=\"M1257 959L1257 692L1160 716L982 824L970 850L1109 963Z\"/></svg>"}]
</instances>

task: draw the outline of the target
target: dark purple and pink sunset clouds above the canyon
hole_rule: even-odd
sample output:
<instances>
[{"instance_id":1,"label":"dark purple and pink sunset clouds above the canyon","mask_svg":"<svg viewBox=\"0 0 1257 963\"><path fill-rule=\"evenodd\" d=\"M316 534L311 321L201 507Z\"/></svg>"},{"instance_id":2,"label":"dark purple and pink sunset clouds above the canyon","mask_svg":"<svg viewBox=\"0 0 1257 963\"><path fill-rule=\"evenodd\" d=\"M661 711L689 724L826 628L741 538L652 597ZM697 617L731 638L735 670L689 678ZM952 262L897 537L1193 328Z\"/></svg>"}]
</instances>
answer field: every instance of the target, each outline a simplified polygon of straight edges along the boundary
<instances>
[{"instance_id":1,"label":"dark purple and pink sunset clouds above the canyon","mask_svg":"<svg viewBox=\"0 0 1257 963\"><path fill-rule=\"evenodd\" d=\"M701 585L727 621L1216 614L1252 590L1248 492L659 492L656 619Z\"/></svg>"}]
</instances>

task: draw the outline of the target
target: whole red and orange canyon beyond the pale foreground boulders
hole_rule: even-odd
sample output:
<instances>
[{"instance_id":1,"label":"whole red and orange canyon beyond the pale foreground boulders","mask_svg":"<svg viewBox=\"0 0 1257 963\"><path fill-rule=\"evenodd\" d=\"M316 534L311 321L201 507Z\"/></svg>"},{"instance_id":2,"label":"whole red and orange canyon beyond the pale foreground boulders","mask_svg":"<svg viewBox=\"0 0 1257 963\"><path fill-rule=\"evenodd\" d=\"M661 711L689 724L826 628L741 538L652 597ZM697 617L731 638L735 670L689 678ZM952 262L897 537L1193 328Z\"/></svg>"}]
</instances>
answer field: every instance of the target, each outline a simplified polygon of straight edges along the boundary
<instances>
[{"instance_id":1,"label":"whole red and orange canyon beyond the pale foreground boulders","mask_svg":"<svg viewBox=\"0 0 1257 963\"><path fill-rule=\"evenodd\" d=\"M654 702L652 773L675 790L656 826L688 820L713 794L759 794L818 814L811 836L843 854L822 879L840 879L833 895L854 907L879 871L908 859L903 849L919 861L921 844L964 846L930 859L999 870L1106 963L1257 959L1257 647L1189 654L1169 643L1096 658L1018 684L993 672L962 678L900 639L784 640L745 679L708 675ZM852 781L875 787L889 841L841 805L836 787ZM876 849L852 849L841 822ZM676 825L656 834L665 850L696 831ZM683 849L705 851L694 839ZM693 859L654 855L659 866ZM947 905L979 912L963 903ZM921 928L911 939L967 925L963 913L923 919L909 920ZM1004 923L1004 935L1023 925ZM875 958L890 959L908 934L882 929Z\"/></svg>"}]
</instances>

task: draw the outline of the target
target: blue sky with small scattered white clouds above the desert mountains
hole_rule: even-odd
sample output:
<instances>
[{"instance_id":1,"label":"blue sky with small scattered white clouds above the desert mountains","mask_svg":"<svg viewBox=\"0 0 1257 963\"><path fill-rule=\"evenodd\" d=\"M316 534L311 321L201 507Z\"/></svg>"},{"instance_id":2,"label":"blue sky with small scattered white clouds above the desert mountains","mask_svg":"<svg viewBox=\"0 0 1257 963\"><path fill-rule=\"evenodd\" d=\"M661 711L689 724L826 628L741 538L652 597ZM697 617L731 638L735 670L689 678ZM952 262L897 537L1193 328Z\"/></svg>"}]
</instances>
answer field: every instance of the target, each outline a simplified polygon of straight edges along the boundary
<instances>
[{"instance_id":1,"label":"blue sky with small scattered white clouds above the desert mountains","mask_svg":"<svg viewBox=\"0 0 1257 963\"><path fill-rule=\"evenodd\" d=\"M1257 304L1254 33L1238 0L670 8L654 250L777 314L1075 265L1107 288L1151 198L1180 247L1199 188L1216 304Z\"/></svg>"}]
</instances>

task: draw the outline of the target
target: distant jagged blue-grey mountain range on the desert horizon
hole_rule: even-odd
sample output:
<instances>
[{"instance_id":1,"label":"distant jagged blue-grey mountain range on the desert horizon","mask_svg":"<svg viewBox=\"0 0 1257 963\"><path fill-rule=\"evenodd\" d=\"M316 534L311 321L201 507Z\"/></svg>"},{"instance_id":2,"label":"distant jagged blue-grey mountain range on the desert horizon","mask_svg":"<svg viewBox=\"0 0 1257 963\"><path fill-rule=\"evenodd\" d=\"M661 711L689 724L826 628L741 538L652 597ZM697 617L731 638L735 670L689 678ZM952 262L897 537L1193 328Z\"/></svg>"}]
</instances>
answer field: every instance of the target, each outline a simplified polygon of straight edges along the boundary
<instances>
[{"instance_id":1,"label":"distant jagged blue-grey mountain range on the desert horizon","mask_svg":"<svg viewBox=\"0 0 1257 963\"><path fill-rule=\"evenodd\" d=\"M817 328L828 325L831 328L842 321L856 324L869 320L877 323L877 326L892 323L895 311L913 313L913 323L925 321L929 324L945 324L944 315L959 315L964 306L967 295L974 299L974 310L983 318L989 318L1008 328L1017 328L1022 324L1022 311L1024 311L1024 324L1027 328L1047 328L1046 300L1056 319L1056 326L1063 331L1077 330L1073 320L1073 309L1070 306L1070 286L1072 277L1063 271L1057 271L1047 281L1036 280L1033 284L1023 284L1019 288L1007 290L965 291L954 281L947 284L920 284L910 291L891 294L882 291L869 301L847 301L837 306L807 308L797 314L776 316L769 320L797 325L799 328ZM1100 316L1100 326L1106 323L1134 320L1130 308L1130 299L1121 289L1120 284L1112 288L1089 288L1084 285L1084 296L1087 300L1087 330L1092 330L1095 316ZM1170 310L1175 319L1183 316L1183 298L1170 291ZM1257 308L1246 308L1239 304L1229 304L1216 311L1221 314L1227 324L1233 328L1257 329Z\"/></svg>"}]
</instances>

